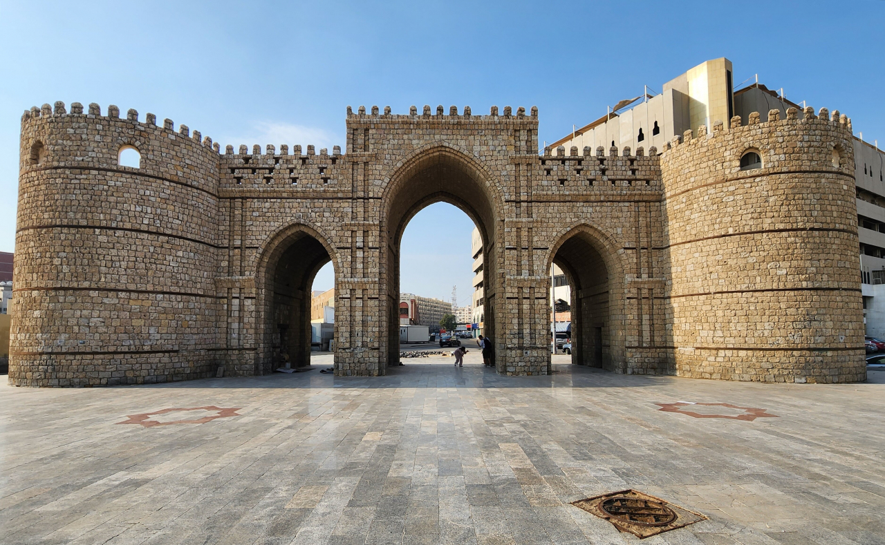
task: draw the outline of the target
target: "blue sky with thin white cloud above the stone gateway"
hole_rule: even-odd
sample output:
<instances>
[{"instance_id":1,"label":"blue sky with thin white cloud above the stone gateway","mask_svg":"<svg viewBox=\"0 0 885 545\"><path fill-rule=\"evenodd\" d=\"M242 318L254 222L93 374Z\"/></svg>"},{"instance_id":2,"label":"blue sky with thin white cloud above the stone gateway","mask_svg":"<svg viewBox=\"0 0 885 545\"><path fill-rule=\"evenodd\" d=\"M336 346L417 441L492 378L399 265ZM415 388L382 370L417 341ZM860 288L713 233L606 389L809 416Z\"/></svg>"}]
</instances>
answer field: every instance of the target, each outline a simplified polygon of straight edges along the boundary
<instances>
[{"instance_id":1,"label":"blue sky with thin white cloud above the stone gateway","mask_svg":"<svg viewBox=\"0 0 885 545\"><path fill-rule=\"evenodd\" d=\"M412 104L475 112L537 105L539 140L551 142L604 114L606 104L640 94L643 84L659 91L690 67L727 57L735 82L758 73L791 100L847 113L856 133L882 144L882 21L881 0L0 0L0 251L14 246L19 118L32 105L96 102L104 111L117 104L174 119L222 145L318 148L343 146L348 104L395 112ZM427 240L451 216L419 214L405 236L414 230L416 240ZM463 228L449 238L465 241L469 253L470 227ZM408 276L408 253L404 242L404 289L448 298L452 284L461 288L465 280L436 286L420 273ZM469 285L470 273L458 274Z\"/></svg>"}]
</instances>

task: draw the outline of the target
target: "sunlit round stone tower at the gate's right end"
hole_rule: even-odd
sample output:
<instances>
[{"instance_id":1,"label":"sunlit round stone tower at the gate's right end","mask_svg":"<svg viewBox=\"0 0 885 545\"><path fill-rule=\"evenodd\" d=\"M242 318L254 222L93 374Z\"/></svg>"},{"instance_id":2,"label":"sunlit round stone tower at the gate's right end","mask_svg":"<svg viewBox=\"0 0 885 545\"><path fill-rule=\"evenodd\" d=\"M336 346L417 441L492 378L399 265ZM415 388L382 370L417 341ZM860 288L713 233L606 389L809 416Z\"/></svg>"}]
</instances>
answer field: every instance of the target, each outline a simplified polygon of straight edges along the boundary
<instances>
[{"instance_id":1,"label":"sunlit round stone tower at the gate's right end","mask_svg":"<svg viewBox=\"0 0 885 545\"><path fill-rule=\"evenodd\" d=\"M864 380L850 121L768 115L687 131L661 157L676 372Z\"/></svg>"}]
</instances>

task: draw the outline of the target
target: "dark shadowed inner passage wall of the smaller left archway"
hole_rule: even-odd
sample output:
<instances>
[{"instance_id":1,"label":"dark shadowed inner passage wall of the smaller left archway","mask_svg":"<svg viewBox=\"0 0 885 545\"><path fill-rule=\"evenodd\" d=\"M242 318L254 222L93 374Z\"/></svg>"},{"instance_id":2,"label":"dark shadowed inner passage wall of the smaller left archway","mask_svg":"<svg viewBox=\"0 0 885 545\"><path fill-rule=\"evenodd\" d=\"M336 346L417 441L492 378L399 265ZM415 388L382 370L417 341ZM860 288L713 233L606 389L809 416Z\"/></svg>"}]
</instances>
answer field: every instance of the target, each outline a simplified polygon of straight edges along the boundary
<instances>
[{"instance_id":1,"label":"dark shadowed inner passage wall of the smaller left archway","mask_svg":"<svg viewBox=\"0 0 885 545\"><path fill-rule=\"evenodd\" d=\"M326 247L306 233L293 235L281 250L267 286L271 297L264 372L284 366L287 357L292 367L310 365L311 288L313 278L330 259Z\"/></svg>"}]
</instances>

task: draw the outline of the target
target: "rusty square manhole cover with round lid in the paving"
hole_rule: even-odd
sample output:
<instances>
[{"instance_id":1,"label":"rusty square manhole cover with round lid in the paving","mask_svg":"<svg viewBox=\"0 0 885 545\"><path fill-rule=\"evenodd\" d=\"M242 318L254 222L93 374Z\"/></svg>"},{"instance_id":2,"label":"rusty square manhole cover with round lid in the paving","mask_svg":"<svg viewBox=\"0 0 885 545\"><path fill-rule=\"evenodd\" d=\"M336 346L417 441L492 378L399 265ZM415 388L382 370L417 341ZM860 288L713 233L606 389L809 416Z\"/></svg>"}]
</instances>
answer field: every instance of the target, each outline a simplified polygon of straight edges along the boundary
<instances>
[{"instance_id":1,"label":"rusty square manhole cover with round lid in the paving","mask_svg":"<svg viewBox=\"0 0 885 545\"><path fill-rule=\"evenodd\" d=\"M693 510L632 489L596 495L572 504L605 518L620 532L632 533L640 539L707 519Z\"/></svg>"}]
</instances>

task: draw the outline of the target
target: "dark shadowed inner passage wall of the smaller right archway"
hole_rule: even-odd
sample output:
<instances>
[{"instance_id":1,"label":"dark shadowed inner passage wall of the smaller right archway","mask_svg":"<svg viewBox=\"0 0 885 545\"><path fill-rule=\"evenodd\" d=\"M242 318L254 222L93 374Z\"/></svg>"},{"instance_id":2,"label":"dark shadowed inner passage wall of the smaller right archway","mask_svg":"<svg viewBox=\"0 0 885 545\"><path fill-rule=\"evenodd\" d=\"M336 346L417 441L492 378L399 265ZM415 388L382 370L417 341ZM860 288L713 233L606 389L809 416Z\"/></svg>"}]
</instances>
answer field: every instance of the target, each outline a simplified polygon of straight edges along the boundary
<instances>
[{"instance_id":1,"label":"dark shadowed inner passage wall of the smaller right archway","mask_svg":"<svg viewBox=\"0 0 885 545\"><path fill-rule=\"evenodd\" d=\"M612 369L609 273L584 235L563 242L553 258L572 288L572 362Z\"/></svg>"}]
</instances>

